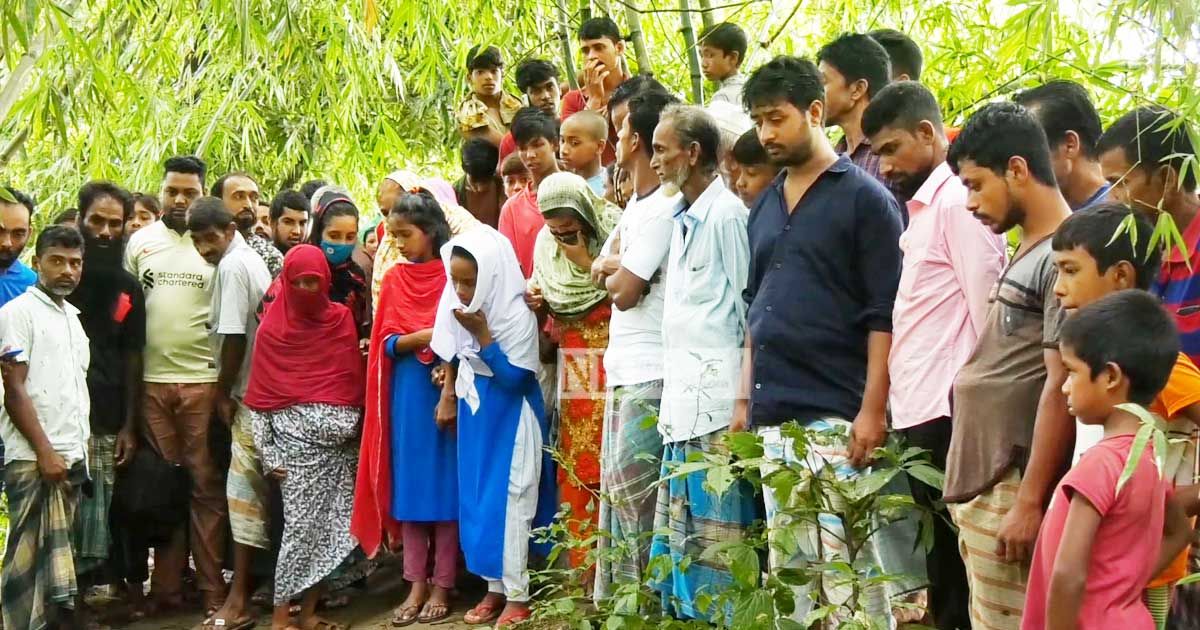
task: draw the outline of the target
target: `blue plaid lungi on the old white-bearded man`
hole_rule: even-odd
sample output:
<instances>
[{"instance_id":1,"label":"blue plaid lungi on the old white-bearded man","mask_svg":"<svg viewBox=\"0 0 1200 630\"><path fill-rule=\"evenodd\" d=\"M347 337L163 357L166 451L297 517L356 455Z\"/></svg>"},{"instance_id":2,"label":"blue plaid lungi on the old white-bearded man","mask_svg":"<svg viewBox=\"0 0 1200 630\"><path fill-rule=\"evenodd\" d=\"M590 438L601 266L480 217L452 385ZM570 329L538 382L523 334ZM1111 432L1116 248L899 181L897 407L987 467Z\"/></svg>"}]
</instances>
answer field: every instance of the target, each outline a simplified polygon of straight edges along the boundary
<instances>
[{"instance_id":1,"label":"blue plaid lungi on the old white-bearded man","mask_svg":"<svg viewBox=\"0 0 1200 630\"><path fill-rule=\"evenodd\" d=\"M670 475L689 457L726 450L721 442L725 433L722 428L664 445L661 475ZM653 587L662 596L664 610L676 617L714 619L725 614L715 610L702 611L696 605L698 595L716 596L733 583L733 574L724 562L719 558L702 560L701 554L713 545L743 540L757 516L754 488L748 482L736 481L725 494L716 497L704 488L704 480L706 472L697 472L659 486L650 560L670 556L672 566L664 580L654 581ZM684 558L690 564L680 570Z\"/></svg>"}]
</instances>

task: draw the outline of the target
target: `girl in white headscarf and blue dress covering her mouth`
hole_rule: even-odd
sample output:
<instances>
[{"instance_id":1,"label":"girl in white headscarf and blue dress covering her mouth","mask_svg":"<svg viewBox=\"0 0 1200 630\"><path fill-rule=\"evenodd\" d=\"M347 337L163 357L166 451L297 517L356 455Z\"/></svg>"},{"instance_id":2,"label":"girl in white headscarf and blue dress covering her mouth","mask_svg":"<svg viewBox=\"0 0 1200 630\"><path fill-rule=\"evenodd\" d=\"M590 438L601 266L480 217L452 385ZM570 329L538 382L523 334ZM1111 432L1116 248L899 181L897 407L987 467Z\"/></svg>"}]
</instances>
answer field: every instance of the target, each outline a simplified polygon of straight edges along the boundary
<instances>
[{"instance_id":1,"label":"girl in white headscarf and blue dress covering her mouth","mask_svg":"<svg viewBox=\"0 0 1200 630\"><path fill-rule=\"evenodd\" d=\"M448 278L432 348L448 362L439 422L457 422L458 532L467 569L488 593L464 620L529 617L529 542L554 515L538 324L512 246L480 226L442 247ZM503 610L502 610L503 608Z\"/></svg>"}]
</instances>

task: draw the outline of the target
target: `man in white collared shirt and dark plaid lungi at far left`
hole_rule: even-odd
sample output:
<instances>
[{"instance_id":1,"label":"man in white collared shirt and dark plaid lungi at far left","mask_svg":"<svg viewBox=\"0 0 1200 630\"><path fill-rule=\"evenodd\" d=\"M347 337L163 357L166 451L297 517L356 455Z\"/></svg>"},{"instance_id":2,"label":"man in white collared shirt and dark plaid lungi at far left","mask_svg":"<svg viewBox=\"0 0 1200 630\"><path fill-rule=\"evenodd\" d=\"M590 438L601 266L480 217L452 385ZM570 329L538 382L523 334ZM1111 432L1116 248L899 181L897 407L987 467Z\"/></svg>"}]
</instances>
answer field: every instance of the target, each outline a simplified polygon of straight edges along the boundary
<instances>
[{"instance_id":1,"label":"man in white collared shirt and dark plaid lungi at far left","mask_svg":"<svg viewBox=\"0 0 1200 630\"><path fill-rule=\"evenodd\" d=\"M78 592L73 526L88 478L91 407L88 336L66 301L83 274L83 236L50 226L37 238L37 283L0 308L4 370L0 434L8 546L0 569L5 628L70 626Z\"/></svg>"}]
</instances>

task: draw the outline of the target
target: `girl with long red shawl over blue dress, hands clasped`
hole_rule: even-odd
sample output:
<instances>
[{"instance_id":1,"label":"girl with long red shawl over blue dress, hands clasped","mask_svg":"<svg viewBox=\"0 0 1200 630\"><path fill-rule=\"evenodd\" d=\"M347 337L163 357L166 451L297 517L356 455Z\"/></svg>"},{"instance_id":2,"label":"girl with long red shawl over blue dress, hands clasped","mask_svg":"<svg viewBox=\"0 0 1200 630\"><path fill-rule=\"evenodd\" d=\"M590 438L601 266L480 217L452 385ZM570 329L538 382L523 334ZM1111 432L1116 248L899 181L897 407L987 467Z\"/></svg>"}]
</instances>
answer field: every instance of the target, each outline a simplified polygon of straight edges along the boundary
<instances>
[{"instance_id":1,"label":"girl with long red shawl over blue dress, hands clasped","mask_svg":"<svg viewBox=\"0 0 1200 630\"><path fill-rule=\"evenodd\" d=\"M434 420L440 391L430 350L446 282L438 251L450 240L450 226L431 194L403 193L388 215L388 230L408 263L389 269L379 292L350 533L368 556L378 552L383 534L392 544L403 540L404 580L413 588L392 617L398 628L450 614L458 563L458 467L454 427Z\"/></svg>"}]
</instances>

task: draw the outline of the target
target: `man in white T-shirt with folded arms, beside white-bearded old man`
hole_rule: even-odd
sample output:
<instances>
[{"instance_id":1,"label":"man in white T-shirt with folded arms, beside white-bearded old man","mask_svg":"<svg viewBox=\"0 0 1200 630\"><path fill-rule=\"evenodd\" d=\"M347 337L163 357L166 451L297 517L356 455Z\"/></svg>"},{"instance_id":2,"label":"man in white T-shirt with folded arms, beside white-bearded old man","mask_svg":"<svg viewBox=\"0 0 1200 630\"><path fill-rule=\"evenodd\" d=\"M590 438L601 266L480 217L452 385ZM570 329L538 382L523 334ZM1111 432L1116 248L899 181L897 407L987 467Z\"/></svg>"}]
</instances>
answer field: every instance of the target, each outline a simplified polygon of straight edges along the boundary
<instances>
[{"instance_id":1,"label":"man in white T-shirt with folded arms, beside white-bearded old man","mask_svg":"<svg viewBox=\"0 0 1200 630\"><path fill-rule=\"evenodd\" d=\"M622 542L636 553L619 560L599 553L595 598L612 586L641 583L649 559L646 533L654 529L662 437L650 419L662 398L662 271L671 250L679 196L662 193L650 168L650 139L662 109L676 102L665 90L648 89L612 110L617 127L617 166L634 179L635 197L625 206L593 277L612 298L608 349L605 352L607 400L600 462L600 550Z\"/></svg>"}]
</instances>

